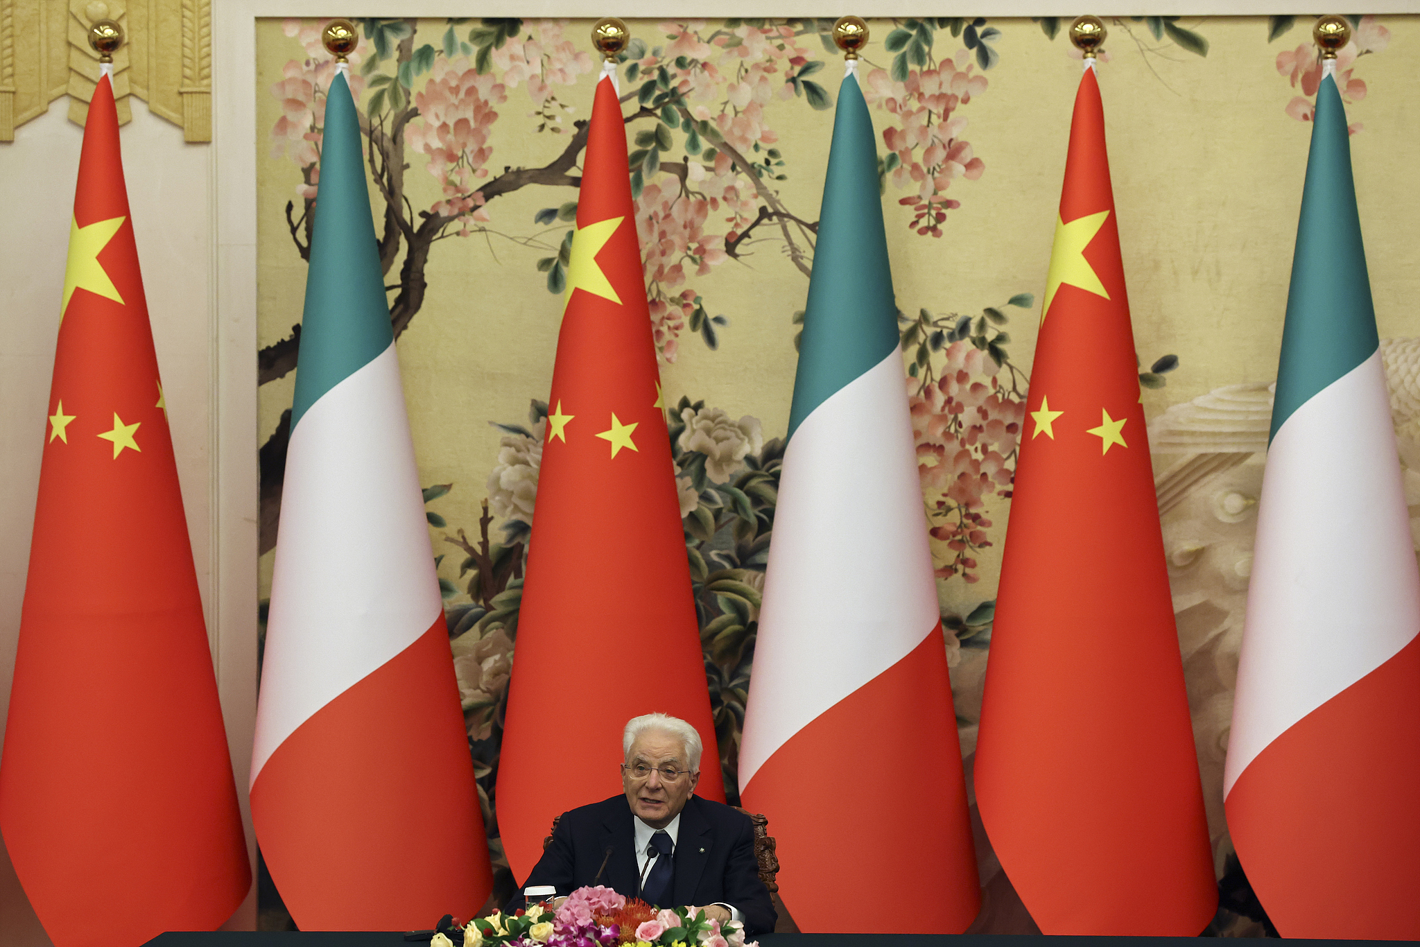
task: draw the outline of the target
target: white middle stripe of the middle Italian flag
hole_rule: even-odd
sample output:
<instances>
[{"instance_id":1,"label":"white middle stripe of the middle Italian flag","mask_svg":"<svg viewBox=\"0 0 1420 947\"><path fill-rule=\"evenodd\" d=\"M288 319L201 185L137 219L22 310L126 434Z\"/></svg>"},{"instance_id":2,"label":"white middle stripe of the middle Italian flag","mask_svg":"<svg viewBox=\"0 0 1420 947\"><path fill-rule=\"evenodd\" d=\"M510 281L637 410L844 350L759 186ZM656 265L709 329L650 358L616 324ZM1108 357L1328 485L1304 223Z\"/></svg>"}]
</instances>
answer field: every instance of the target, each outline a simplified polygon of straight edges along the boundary
<instances>
[{"instance_id":1,"label":"white middle stripe of the middle Italian flag","mask_svg":"<svg viewBox=\"0 0 1420 947\"><path fill-rule=\"evenodd\" d=\"M814 409L785 450L740 788L939 620L899 346Z\"/></svg>"}]
</instances>

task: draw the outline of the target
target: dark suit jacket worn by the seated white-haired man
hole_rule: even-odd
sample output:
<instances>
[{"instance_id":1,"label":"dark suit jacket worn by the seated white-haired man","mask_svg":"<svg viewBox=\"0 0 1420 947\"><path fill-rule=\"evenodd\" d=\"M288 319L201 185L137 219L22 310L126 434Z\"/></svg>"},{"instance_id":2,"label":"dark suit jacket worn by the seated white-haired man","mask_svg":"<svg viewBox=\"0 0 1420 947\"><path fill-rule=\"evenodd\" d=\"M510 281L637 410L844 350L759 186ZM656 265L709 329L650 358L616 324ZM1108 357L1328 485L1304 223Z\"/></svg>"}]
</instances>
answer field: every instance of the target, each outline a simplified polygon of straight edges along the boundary
<instances>
[{"instance_id":1,"label":"dark suit jacket worn by the seated white-haired man","mask_svg":"<svg viewBox=\"0 0 1420 947\"><path fill-rule=\"evenodd\" d=\"M552 843L532 866L523 887L552 885L558 894L571 894L595 880L619 894L635 897L640 882L635 845L630 804L623 795L564 812L552 831ZM672 900L676 906L734 904L747 934L774 930L774 906L760 880L750 816L721 802L692 795L680 811L673 858L676 882ZM602 875L596 880L599 869ZM523 903L523 889L518 890L514 906Z\"/></svg>"}]
</instances>

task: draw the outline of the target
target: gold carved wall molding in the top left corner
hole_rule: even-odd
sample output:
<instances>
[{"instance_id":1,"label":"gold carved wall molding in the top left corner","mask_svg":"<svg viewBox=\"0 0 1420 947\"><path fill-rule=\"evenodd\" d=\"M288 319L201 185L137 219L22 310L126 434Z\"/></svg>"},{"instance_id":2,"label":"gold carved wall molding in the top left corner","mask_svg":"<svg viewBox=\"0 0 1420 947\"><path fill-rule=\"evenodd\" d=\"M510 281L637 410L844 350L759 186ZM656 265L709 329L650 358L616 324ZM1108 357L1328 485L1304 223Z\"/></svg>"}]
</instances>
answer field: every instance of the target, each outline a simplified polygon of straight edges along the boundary
<instances>
[{"instance_id":1,"label":"gold carved wall molding in the top left corner","mask_svg":"<svg viewBox=\"0 0 1420 947\"><path fill-rule=\"evenodd\" d=\"M186 141L210 142L212 0L0 0L0 142L61 95L84 124L99 78L88 28L102 18L125 33L114 55L118 121L131 121L136 95Z\"/></svg>"}]
</instances>

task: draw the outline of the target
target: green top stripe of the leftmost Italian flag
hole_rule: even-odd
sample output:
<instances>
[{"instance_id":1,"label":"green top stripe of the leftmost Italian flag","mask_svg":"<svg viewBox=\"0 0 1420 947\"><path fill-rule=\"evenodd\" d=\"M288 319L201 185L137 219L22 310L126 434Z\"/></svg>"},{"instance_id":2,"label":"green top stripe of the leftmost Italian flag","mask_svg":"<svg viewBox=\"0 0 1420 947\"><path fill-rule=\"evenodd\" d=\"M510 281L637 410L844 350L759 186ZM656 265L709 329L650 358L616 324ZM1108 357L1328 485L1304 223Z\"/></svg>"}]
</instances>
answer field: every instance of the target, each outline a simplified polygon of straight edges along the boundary
<instances>
[{"instance_id":1,"label":"green top stripe of the leftmost Italian flag","mask_svg":"<svg viewBox=\"0 0 1420 947\"><path fill-rule=\"evenodd\" d=\"M376 246L355 99L337 74L325 98L291 430L325 392L395 341Z\"/></svg>"}]
</instances>

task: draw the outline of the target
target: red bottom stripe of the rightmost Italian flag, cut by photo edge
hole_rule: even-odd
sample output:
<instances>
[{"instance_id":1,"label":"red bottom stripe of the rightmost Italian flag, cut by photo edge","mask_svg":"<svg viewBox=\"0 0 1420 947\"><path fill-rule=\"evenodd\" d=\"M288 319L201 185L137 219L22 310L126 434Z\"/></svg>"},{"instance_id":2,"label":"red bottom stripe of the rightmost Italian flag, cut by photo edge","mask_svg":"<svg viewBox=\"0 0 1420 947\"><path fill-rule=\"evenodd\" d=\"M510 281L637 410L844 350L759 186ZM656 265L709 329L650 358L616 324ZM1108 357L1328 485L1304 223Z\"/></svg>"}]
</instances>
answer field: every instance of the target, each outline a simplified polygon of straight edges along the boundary
<instances>
[{"instance_id":1,"label":"red bottom stripe of the rightmost Italian flag, cut by photo edge","mask_svg":"<svg viewBox=\"0 0 1420 947\"><path fill-rule=\"evenodd\" d=\"M1227 815L1282 937L1420 940L1420 637L1269 743Z\"/></svg>"}]
</instances>

